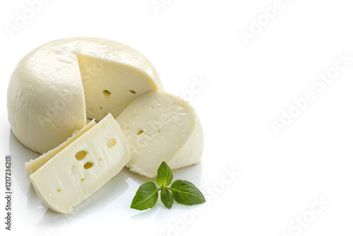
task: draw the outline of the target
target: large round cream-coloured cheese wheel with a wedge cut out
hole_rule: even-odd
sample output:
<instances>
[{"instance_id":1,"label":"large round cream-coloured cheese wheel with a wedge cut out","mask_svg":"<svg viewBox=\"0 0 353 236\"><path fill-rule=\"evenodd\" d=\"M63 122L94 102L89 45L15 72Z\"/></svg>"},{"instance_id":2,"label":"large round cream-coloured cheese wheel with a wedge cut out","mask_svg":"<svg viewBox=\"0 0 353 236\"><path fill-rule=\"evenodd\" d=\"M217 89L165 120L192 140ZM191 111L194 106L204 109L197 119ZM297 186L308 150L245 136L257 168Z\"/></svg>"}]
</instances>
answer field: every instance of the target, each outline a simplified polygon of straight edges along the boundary
<instances>
[{"instance_id":1,"label":"large round cream-coloured cheese wheel with a wedge cut out","mask_svg":"<svg viewBox=\"0 0 353 236\"><path fill-rule=\"evenodd\" d=\"M127 45L91 37L55 40L13 71L8 120L23 145L45 153L83 128L86 118L116 118L138 96L162 88L150 61Z\"/></svg>"}]
</instances>

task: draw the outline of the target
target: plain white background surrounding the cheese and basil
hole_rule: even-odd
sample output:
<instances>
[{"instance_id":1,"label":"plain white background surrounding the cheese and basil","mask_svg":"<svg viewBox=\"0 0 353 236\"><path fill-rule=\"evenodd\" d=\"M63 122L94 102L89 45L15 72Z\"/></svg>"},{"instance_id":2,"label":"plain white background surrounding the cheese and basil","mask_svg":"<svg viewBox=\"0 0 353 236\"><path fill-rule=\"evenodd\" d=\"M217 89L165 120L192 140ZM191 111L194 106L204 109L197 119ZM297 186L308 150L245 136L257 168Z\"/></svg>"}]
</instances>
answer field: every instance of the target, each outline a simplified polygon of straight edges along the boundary
<instances>
[{"instance_id":1,"label":"plain white background surrounding the cheese and basil","mask_svg":"<svg viewBox=\"0 0 353 236\"><path fill-rule=\"evenodd\" d=\"M352 235L350 1L49 0L32 15L28 9L28 1L1 1L1 235L11 235L4 229L6 154L13 159L12 235ZM19 15L28 20L18 27ZM9 25L18 28L11 33ZM148 179L128 170L68 216L37 199L23 163L38 154L11 133L7 85L25 54L74 36L138 49L165 90L190 100L205 133L203 159L174 179L195 183L206 204L130 209ZM333 79L319 81L327 73ZM203 83L191 91L195 81ZM278 134L273 122L282 124Z\"/></svg>"}]
</instances>

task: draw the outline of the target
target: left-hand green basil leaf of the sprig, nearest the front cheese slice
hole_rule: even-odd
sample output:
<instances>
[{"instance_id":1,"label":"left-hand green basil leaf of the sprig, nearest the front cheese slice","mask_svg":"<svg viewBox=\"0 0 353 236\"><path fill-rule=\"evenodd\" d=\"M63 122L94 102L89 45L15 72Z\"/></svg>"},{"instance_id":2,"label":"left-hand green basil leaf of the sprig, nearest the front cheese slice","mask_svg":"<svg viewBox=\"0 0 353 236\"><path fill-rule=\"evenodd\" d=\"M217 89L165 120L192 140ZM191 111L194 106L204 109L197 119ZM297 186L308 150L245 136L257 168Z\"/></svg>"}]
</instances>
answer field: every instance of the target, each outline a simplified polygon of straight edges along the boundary
<instances>
[{"instance_id":1,"label":"left-hand green basil leaf of the sprig, nearest the front cheese slice","mask_svg":"<svg viewBox=\"0 0 353 236\"><path fill-rule=\"evenodd\" d=\"M136 210L146 210L155 206L158 199L158 189L153 182L145 182L136 191L130 208Z\"/></svg>"}]
</instances>

